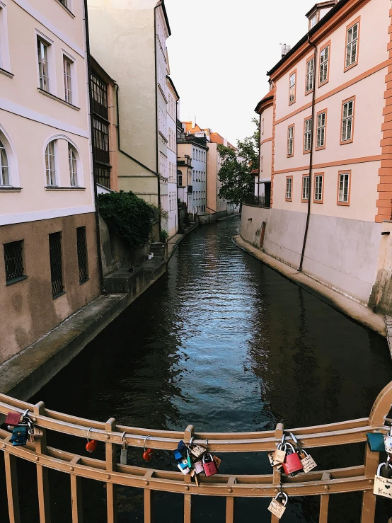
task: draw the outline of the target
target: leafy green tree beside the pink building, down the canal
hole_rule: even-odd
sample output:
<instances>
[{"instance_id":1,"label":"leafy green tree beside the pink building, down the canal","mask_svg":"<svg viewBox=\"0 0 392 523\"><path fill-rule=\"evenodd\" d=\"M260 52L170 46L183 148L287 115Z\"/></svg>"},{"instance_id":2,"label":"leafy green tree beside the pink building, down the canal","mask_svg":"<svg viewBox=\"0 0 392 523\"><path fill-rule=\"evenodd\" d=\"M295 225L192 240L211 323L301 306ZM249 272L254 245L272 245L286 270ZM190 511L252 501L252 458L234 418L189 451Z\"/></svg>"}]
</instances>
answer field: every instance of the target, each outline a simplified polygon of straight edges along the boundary
<instances>
[{"instance_id":1,"label":"leafy green tree beside the pink building, down the canal","mask_svg":"<svg viewBox=\"0 0 392 523\"><path fill-rule=\"evenodd\" d=\"M252 121L255 132L251 137L237 140L237 151L221 144L217 147L222 159L219 197L236 205L254 194L255 173L259 170L260 122L256 118Z\"/></svg>"}]
</instances>

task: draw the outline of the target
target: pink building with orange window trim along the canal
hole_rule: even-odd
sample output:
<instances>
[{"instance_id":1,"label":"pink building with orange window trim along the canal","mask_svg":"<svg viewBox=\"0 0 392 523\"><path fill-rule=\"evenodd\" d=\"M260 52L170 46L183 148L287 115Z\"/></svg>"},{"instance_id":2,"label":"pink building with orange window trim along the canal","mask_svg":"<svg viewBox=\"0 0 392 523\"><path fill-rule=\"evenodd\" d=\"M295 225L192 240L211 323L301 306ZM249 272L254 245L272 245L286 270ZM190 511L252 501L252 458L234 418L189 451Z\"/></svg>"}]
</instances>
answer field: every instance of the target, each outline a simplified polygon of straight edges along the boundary
<instances>
[{"instance_id":1,"label":"pink building with orange window trim along the canal","mask_svg":"<svg viewBox=\"0 0 392 523\"><path fill-rule=\"evenodd\" d=\"M340 0L309 11L256 108L271 208L244 206L241 226L266 253L378 310L392 304L390 8Z\"/></svg>"}]
</instances>

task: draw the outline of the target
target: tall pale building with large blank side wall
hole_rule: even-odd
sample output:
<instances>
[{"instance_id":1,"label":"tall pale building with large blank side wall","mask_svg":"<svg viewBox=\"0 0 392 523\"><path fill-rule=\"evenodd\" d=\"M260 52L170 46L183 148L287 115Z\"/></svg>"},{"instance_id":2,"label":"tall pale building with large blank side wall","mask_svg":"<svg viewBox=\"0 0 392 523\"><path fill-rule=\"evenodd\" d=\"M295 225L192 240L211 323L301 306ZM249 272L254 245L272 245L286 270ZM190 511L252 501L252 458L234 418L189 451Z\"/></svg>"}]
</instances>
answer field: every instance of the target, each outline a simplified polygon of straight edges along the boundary
<instances>
[{"instance_id":1,"label":"tall pale building with large blank side wall","mask_svg":"<svg viewBox=\"0 0 392 523\"><path fill-rule=\"evenodd\" d=\"M91 54L117 83L118 189L169 208L164 1L88 0L88 19Z\"/></svg>"}]
</instances>

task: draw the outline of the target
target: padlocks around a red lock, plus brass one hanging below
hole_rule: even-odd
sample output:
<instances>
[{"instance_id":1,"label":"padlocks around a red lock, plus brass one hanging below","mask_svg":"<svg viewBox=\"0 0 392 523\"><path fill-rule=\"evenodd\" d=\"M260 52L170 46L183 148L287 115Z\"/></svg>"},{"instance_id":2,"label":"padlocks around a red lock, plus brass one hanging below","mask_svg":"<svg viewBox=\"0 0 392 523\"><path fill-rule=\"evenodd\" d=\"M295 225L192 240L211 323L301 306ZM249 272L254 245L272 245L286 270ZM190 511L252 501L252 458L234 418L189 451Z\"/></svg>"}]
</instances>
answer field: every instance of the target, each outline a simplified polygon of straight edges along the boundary
<instances>
[{"instance_id":1,"label":"padlocks around a red lock, plus brass one hanging below","mask_svg":"<svg viewBox=\"0 0 392 523\"><path fill-rule=\"evenodd\" d=\"M287 441L289 438L292 439L292 443ZM282 441L277 444L275 452L268 454L272 468L283 470L290 477L296 476L300 472L308 473L313 471L317 466L316 461L306 450L302 449L300 442L292 432L289 432L289 438L283 433ZM288 500L289 496L281 488L280 492L270 502L268 510L280 519L286 510Z\"/></svg>"}]
</instances>

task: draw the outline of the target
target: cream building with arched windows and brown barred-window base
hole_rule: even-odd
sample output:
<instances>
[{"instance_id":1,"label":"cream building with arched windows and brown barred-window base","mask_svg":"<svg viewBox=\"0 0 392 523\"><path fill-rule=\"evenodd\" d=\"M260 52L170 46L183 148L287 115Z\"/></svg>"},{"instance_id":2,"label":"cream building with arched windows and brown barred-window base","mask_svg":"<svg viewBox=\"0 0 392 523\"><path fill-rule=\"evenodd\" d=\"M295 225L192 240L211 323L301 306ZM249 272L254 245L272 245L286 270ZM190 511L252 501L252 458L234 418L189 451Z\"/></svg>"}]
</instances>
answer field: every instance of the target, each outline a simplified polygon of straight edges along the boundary
<instances>
[{"instance_id":1,"label":"cream building with arched windows and brown barred-window base","mask_svg":"<svg viewBox=\"0 0 392 523\"><path fill-rule=\"evenodd\" d=\"M83 0L1 0L0 35L1 363L100 277Z\"/></svg>"}]
</instances>

